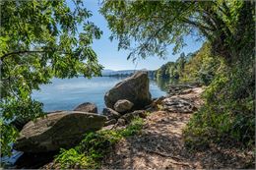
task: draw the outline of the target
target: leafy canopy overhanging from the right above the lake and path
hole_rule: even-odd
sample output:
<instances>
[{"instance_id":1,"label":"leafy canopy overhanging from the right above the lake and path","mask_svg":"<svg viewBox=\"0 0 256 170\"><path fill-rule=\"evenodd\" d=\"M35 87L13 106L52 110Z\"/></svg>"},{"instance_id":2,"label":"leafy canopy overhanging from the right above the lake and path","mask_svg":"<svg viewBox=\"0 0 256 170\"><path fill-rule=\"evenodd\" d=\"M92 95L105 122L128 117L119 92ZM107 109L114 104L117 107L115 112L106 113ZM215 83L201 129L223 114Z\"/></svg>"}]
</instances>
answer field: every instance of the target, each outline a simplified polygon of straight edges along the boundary
<instances>
[{"instance_id":1,"label":"leafy canopy overhanging from the right above the lake and path","mask_svg":"<svg viewBox=\"0 0 256 170\"><path fill-rule=\"evenodd\" d=\"M119 48L131 49L128 58L162 57L169 44L177 52L191 33L209 40L227 63L244 51L251 57L254 49L253 1L106 0L101 13L112 30L111 38L119 39Z\"/></svg>"}]
</instances>

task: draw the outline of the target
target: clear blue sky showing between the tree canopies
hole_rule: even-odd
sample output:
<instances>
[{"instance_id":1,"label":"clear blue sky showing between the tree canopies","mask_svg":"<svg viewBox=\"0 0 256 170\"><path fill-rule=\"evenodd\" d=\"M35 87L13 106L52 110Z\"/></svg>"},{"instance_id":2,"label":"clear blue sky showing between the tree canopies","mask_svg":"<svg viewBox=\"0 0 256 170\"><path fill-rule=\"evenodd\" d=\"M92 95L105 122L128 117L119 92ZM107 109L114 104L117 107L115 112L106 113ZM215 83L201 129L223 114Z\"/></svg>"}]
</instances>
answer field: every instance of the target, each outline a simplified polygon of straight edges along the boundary
<instances>
[{"instance_id":1,"label":"clear blue sky showing between the tree canopies","mask_svg":"<svg viewBox=\"0 0 256 170\"><path fill-rule=\"evenodd\" d=\"M67 0L70 1L70 0ZM70 3L68 2L70 5ZM140 59L138 63L133 63L132 60L127 60L129 51L120 50L118 51L118 41L109 40L111 31L107 27L107 22L104 17L98 12L100 5L97 0L87 0L84 2L85 7L93 13L93 17L89 21L94 22L95 25L103 31L100 39L96 39L93 43L93 49L96 52L98 62L104 69L109 70L157 70L161 65L175 61L180 53L172 55L172 48L168 47L168 54L165 59L160 59L158 56L148 57L146 59ZM202 46L202 41L196 41L195 37L186 37L185 42L187 46L183 47L181 52L188 54L189 52L195 52Z\"/></svg>"}]
</instances>

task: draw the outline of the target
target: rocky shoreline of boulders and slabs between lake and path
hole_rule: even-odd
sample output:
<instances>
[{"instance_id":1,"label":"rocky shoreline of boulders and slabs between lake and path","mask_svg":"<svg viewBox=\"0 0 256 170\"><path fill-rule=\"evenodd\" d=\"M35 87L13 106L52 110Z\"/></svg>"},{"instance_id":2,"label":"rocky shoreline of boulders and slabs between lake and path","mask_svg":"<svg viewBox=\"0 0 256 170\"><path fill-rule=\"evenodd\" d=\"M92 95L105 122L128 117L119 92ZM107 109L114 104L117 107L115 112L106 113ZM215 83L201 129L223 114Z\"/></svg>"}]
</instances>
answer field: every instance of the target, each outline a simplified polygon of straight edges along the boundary
<instances>
[{"instance_id":1,"label":"rocky shoreline of boulders and slabs between lake and path","mask_svg":"<svg viewBox=\"0 0 256 170\"><path fill-rule=\"evenodd\" d=\"M86 132L124 128L135 117L145 119L149 112L192 113L202 103L193 97L182 98L182 94L201 89L191 85L170 86L168 95L152 99L147 72L137 72L106 92L104 100L107 107L102 113L97 113L94 103L85 102L74 111L51 112L27 123L14 144L14 148L23 151L24 155L12 168L39 168L51 161L60 148L70 148L79 143Z\"/></svg>"}]
</instances>

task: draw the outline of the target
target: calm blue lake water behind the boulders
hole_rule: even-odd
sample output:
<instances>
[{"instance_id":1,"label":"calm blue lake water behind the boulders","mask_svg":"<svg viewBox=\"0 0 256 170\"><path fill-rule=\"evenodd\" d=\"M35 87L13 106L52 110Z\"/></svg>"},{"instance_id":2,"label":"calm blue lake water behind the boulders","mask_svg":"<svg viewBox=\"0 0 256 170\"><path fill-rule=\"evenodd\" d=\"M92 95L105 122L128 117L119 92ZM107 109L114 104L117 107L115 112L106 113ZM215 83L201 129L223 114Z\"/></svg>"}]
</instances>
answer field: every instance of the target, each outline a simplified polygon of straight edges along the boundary
<instances>
[{"instance_id":1,"label":"calm blue lake water behind the boulders","mask_svg":"<svg viewBox=\"0 0 256 170\"><path fill-rule=\"evenodd\" d=\"M44 111L73 110L84 102L95 103L98 111L102 111L104 94L111 87L125 78L97 77L88 80L84 77L73 79L53 79L52 84L41 85L40 90L32 92L32 98L43 103ZM157 82L150 81L152 97L165 95L164 89Z\"/></svg>"}]
</instances>

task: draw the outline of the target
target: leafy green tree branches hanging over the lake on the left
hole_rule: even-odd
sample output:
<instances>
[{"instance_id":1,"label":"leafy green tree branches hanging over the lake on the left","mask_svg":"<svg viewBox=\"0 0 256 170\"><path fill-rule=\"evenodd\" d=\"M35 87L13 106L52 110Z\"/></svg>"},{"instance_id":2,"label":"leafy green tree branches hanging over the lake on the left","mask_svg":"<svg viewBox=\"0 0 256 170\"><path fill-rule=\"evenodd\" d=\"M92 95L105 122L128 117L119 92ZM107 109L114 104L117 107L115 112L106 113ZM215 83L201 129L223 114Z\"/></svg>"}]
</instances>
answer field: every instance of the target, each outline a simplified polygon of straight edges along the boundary
<instances>
[{"instance_id":1,"label":"leafy green tree branches hanging over the lake on the left","mask_svg":"<svg viewBox=\"0 0 256 170\"><path fill-rule=\"evenodd\" d=\"M50 79L91 78L100 75L92 49L101 31L88 22L92 14L81 0L0 1L1 154L10 153L18 135L9 124L14 119L33 119L42 104L31 97L32 89ZM72 8L71 8L72 7ZM78 32L78 28L83 31Z\"/></svg>"}]
</instances>

